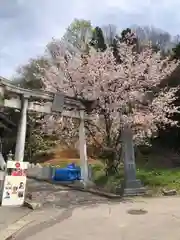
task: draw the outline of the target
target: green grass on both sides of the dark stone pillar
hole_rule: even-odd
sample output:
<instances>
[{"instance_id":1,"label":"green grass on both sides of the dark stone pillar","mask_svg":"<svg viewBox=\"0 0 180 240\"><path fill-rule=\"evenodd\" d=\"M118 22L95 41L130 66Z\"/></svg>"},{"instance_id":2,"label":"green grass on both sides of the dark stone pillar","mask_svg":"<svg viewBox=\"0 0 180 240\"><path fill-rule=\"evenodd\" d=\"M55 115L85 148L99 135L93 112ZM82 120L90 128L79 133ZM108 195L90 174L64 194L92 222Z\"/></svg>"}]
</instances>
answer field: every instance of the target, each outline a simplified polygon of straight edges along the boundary
<instances>
[{"instance_id":1,"label":"green grass on both sides of the dark stone pillar","mask_svg":"<svg viewBox=\"0 0 180 240\"><path fill-rule=\"evenodd\" d=\"M93 166L93 180L97 186L114 192L124 179L123 169L114 176L107 177L102 166ZM154 195L161 194L162 189L176 189L180 193L180 168L149 169L137 167L137 179Z\"/></svg>"}]
</instances>

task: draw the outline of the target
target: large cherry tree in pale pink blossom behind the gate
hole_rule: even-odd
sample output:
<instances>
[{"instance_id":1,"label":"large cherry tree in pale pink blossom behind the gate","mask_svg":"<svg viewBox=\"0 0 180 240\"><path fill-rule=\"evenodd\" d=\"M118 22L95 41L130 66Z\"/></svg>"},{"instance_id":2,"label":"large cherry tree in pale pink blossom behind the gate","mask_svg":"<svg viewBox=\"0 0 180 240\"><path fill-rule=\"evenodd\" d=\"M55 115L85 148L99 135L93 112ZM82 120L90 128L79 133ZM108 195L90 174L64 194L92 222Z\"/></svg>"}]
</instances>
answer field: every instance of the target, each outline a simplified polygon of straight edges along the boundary
<instances>
[{"instance_id":1,"label":"large cherry tree in pale pink blossom behind the gate","mask_svg":"<svg viewBox=\"0 0 180 240\"><path fill-rule=\"evenodd\" d=\"M44 85L50 91L97 100L93 112L98 117L88 130L92 135L98 130L98 144L111 149L111 162L119 160L125 126L132 129L134 141L141 143L155 136L159 124L176 124L170 116L178 111L173 105L177 89L162 89L160 83L178 67L178 60L162 58L150 44L138 52L133 45L119 42L121 64L110 48L72 56L56 41L48 49L54 61L51 68L44 69Z\"/></svg>"}]
</instances>

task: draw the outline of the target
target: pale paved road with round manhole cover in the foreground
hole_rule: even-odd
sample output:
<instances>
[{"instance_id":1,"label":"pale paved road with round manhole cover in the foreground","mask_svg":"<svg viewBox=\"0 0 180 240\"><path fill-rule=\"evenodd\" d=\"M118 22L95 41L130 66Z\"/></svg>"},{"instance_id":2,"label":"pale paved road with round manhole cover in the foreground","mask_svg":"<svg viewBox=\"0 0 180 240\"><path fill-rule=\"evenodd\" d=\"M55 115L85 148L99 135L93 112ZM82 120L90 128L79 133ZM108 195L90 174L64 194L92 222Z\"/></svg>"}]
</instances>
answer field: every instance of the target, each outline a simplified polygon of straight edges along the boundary
<instances>
[{"instance_id":1,"label":"pale paved road with round manhole cover in the foreground","mask_svg":"<svg viewBox=\"0 0 180 240\"><path fill-rule=\"evenodd\" d=\"M56 186L51 200L42 211L34 212L34 222L16 235L16 240L180 239L179 197L109 202ZM140 209L145 214L129 214Z\"/></svg>"}]
</instances>

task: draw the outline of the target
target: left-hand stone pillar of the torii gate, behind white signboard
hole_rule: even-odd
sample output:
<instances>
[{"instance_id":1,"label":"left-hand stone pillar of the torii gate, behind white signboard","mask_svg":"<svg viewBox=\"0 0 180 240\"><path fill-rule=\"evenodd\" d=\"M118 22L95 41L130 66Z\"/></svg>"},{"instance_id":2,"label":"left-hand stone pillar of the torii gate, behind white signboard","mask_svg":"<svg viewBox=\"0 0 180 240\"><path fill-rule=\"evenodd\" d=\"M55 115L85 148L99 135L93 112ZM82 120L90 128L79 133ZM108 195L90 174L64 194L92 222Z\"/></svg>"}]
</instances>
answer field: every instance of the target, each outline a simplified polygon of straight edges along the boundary
<instances>
[{"instance_id":1,"label":"left-hand stone pillar of the torii gate, behind white signboard","mask_svg":"<svg viewBox=\"0 0 180 240\"><path fill-rule=\"evenodd\" d=\"M15 150L15 160L23 161L25 141L26 141L26 128L27 128L27 109L28 109L28 99L22 99L22 109L21 109L21 119L18 127L16 150Z\"/></svg>"}]
</instances>

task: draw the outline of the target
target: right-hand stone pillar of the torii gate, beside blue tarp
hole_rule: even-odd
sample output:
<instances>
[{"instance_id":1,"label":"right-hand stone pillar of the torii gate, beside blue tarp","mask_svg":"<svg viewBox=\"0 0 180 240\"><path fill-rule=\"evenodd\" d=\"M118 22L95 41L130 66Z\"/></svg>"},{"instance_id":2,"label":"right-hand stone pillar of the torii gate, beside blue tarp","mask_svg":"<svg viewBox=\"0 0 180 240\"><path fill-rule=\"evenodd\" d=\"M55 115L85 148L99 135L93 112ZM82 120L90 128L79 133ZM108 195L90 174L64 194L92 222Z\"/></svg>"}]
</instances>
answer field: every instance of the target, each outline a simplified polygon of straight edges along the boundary
<instances>
[{"instance_id":1,"label":"right-hand stone pillar of the torii gate, beside blue tarp","mask_svg":"<svg viewBox=\"0 0 180 240\"><path fill-rule=\"evenodd\" d=\"M80 111L80 125L79 125L79 145L80 145L80 160L81 160L81 176L86 187L88 184L88 159L87 159L87 146L84 127L84 110Z\"/></svg>"}]
</instances>

